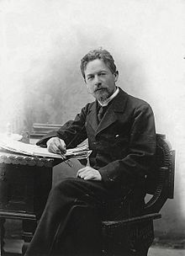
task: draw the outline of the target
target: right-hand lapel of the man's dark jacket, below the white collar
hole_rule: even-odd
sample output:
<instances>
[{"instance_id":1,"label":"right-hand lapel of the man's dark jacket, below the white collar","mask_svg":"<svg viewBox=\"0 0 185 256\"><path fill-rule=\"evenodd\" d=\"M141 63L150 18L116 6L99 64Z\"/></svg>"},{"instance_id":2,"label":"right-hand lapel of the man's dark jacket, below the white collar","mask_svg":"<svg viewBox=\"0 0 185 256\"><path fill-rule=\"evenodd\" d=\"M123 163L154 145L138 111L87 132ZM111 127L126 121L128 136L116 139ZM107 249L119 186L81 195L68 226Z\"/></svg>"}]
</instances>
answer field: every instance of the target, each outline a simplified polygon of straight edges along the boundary
<instances>
[{"instance_id":1,"label":"right-hand lapel of the man's dark jacket, below the white collar","mask_svg":"<svg viewBox=\"0 0 185 256\"><path fill-rule=\"evenodd\" d=\"M119 113L124 112L127 98L128 94L119 88L119 94L113 99L112 104L110 104L108 110L103 116L103 119L99 123L96 130L96 135L98 135L99 132L103 131L109 125L112 125L116 120L118 120Z\"/></svg>"}]
</instances>

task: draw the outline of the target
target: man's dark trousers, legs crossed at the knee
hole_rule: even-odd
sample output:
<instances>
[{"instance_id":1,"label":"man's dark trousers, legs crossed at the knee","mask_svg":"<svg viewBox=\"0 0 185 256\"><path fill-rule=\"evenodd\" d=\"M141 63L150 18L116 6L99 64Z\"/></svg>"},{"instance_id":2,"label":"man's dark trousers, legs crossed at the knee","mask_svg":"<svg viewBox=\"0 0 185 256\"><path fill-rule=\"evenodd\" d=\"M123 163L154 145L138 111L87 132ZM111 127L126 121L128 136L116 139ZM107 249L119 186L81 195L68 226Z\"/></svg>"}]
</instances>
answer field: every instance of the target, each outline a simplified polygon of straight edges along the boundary
<instances>
[{"instance_id":1,"label":"man's dark trousers, legs crossed at the knee","mask_svg":"<svg viewBox=\"0 0 185 256\"><path fill-rule=\"evenodd\" d=\"M63 179L50 191L25 256L101 255L101 221L120 214L107 205L122 200L123 193L128 189L110 189L100 181Z\"/></svg>"}]
</instances>

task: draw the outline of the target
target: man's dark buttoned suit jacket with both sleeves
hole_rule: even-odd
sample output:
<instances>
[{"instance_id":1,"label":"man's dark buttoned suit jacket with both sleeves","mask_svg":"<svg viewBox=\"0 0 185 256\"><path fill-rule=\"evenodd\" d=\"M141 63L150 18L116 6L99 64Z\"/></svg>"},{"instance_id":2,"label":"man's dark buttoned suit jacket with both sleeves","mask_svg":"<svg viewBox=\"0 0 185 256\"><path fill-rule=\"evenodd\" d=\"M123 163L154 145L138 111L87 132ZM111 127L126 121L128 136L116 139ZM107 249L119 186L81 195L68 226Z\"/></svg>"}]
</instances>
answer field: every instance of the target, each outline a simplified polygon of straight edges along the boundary
<instances>
[{"instance_id":1,"label":"man's dark buttoned suit jacket with both sleeves","mask_svg":"<svg viewBox=\"0 0 185 256\"><path fill-rule=\"evenodd\" d=\"M97 101L87 104L75 120L66 122L59 131L50 132L37 145L58 136L66 142L66 147L76 147L88 138L92 149L90 164L98 169L107 186L142 184L145 175L152 175L156 152L150 105L119 88L99 125L97 108Z\"/></svg>"}]
</instances>

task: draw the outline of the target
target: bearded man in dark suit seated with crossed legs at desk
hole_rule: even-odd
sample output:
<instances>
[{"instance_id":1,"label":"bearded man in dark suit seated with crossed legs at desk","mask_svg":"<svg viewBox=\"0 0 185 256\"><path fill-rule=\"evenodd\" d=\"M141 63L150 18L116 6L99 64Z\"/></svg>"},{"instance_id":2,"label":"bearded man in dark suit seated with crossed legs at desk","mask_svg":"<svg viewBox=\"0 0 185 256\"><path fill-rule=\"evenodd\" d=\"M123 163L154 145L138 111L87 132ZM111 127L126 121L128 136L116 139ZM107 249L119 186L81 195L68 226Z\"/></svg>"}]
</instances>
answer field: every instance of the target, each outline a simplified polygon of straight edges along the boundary
<instances>
[{"instance_id":1,"label":"bearded man in dark suit seated with crossed legs at desk","mask_svg":"<svg viewBox=\"0 0 185 256\"><path fill-rule=\"evenodd\" d=\"M101 255L101 221L138 216L143 209L145 175L152 174L156 152L152 109L116 86L119 72L108 51L88 52L81 71L95 101L37 145L65 153L87 138L89 165L50 191L26 256Z\"/></svg>"}]
</instances>

